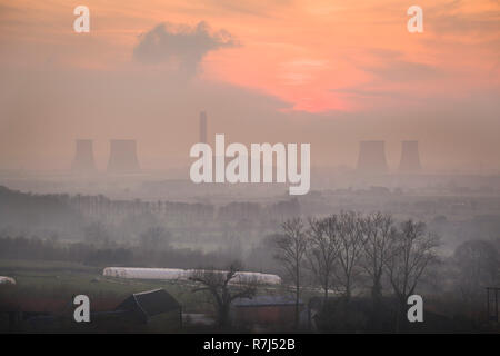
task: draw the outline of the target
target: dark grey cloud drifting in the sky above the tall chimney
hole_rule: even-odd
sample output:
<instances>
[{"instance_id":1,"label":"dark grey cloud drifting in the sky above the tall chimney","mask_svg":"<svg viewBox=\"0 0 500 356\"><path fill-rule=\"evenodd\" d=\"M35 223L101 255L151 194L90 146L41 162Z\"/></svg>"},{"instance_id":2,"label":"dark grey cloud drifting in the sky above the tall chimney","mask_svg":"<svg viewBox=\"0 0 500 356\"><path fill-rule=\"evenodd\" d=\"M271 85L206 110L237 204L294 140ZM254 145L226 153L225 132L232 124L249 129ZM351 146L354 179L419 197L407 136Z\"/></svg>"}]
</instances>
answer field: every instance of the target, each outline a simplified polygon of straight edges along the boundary
<instances>
[{"instance_id":1,"label":"dark grey cloud drifting in the sky above the tall chimney","mask_svg":"<svg viewBox=\"0 0 500 356\"><path fill-rule=\"evenodd\" d=\"M239 42L231 33L212 32L204 21L194 27L166 22L140 37L133 57L142 63L168 62L193 76L208 52L237 46Z\"/></svg>"}]
</instances>

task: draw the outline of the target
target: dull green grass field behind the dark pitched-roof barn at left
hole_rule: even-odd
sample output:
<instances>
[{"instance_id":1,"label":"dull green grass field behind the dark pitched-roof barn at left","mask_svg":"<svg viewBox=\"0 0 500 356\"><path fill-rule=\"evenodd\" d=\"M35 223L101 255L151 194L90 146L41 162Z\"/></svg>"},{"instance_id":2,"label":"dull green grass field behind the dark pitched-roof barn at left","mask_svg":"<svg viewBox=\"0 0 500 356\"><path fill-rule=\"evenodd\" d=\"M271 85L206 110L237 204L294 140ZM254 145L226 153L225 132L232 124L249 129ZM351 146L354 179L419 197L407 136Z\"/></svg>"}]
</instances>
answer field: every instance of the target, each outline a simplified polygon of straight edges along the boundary
<instances>
[{"instance_id":1,"label":"dull green grass field behind the dark pitched-roof barn at left","mask_svg":"<svg viewBox=\"0 0 500 356\"><path fill-rule=\"evenodd\" d=\"M183 313L210 313L211 306L193 285L180 281L120 279L102 276L102 268L59 261L0 259L0 276L13 277L14 286L0 286L0 312L22 312L72 315L72 298L83 294L90 298L91 312L113 310L133 293L163 288L181 305ZM6 327L7 316L0 320ZM161 330L162 323L149 328ZM164 329L164 328L163 328ZM148 329L150 332L150 329Z\"/></svg>"}]
</instances>

